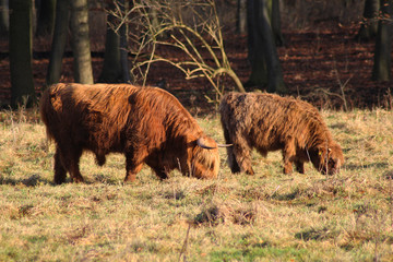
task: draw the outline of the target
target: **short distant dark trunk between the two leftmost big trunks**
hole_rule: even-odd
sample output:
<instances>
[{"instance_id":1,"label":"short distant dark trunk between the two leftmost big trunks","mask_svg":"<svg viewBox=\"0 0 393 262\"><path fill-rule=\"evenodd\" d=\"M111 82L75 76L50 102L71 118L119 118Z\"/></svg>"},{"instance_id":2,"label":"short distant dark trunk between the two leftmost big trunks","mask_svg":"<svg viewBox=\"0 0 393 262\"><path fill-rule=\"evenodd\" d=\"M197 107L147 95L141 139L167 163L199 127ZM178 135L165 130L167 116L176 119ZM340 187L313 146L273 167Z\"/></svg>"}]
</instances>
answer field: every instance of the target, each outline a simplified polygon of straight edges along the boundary
<instances>
[{"instance_id":1,"label":"short distant dark trunk between the two leftmost big trunks","mask_svg":"<svg viewBox=\"0 0 393 262\"><path fill-rule=\"evenodd\" d=\"M40 0L37 19L37 36L51 35L56 17L56 0Z\"/></svg>"}]
</instances>

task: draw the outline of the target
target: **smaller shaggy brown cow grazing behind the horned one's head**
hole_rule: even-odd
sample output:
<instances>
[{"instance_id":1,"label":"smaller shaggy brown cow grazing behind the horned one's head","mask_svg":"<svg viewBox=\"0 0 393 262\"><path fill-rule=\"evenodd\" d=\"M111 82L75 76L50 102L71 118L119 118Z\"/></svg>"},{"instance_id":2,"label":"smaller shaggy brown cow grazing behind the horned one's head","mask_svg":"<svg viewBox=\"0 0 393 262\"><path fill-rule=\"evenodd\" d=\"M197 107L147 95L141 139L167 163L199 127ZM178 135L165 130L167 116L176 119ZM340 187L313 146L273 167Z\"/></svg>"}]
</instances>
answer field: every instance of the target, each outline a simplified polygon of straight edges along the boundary
<instances>
[{"instance_id":1,"label":"smaller shaggy brown cow grazing behind the horned one's head","mask_svg":"<svg viewBox=\"0 0 393 262\"><path fill-rule=\"evenodd\" d=\"M341 146L333 141L321 115L310 104L265 93L228 93L221 102L221 120L233 172L253 175L251 150L266 156L282 150L284 172L303 174L311 160L322 174L334 174L344 163Z\"/></svg>"}]
</instances>

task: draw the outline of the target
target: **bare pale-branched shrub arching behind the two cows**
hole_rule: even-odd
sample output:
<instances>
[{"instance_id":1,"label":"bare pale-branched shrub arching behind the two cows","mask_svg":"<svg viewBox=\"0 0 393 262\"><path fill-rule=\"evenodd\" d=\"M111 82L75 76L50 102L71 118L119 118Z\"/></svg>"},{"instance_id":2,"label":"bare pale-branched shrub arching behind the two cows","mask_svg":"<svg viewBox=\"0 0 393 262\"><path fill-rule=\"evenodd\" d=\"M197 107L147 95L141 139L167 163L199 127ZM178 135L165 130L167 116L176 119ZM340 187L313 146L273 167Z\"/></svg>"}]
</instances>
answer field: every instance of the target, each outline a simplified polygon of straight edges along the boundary
<instances>
[{"instance_id":1,"label":"bare pale-branched shrub arching behind the two cows","mask_svg":"<svg viewBox=\"0 0 393 262\"><path fill-rule=\"evenodd\" d=\"M151 64L165 62L179 69L187 80L206 79L217 95L216 100L225 88L224 75L231 78L237 88L245 92L224 49L215 1L134 1L127 14L120 9L112 14L120 24L129 23L134 28L129 35L130 52L134 57L131 72L134 79L142 78L142 85L146 83ZM186 59L179 61L159 53L160 47L180 51Z\"/></svg>"}]
</instances>

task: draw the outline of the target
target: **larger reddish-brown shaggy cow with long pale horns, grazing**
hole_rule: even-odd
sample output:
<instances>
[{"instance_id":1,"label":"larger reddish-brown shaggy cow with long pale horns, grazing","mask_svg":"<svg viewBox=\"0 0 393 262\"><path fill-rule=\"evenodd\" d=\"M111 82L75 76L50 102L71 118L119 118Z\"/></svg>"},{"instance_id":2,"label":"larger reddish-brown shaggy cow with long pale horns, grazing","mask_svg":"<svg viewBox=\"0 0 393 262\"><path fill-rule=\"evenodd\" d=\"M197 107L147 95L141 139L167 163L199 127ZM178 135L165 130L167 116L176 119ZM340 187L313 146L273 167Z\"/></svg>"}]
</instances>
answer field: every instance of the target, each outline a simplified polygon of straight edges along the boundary
<instances>
[{"instance_id":1,"label":"larger reddish-brown shaggy cow with long pale horns, grazing","mask_svg":"<svg viewBox=\"0 0 393 262\"><path fill-rule=\"evenodd\" d=\"M206 136L168 92L128 84L56 84L44 92L40 115L56 142L55 182L67 172L83 181L79 162L84 151L98 165L111 152L126 155L127 180L147 164L164 179L172 169L196 178L215 178L217 144Z\"/></svg>"}]
</instances>

